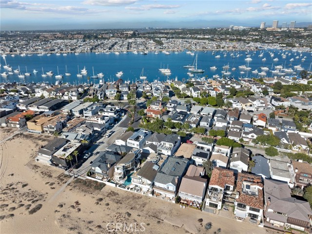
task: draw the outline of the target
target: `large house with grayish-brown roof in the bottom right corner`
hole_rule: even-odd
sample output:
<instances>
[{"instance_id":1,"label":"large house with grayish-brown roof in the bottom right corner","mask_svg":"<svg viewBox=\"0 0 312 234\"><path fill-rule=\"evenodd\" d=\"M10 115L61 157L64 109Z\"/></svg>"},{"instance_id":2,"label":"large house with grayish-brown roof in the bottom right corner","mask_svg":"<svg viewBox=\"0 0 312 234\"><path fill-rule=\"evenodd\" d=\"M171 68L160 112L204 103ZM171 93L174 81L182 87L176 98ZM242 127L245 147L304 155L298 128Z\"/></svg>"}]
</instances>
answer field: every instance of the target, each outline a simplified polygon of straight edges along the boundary
<instances>
[{"instance_id":1,"label":"large house with grayish-brown roof in the bottom right corner","mask_svg":"<svg viewBox=\"0 0 312 234\"><path fill-rule=\"evenodd\" d=\"M264 180L264 187L266 222L273 227L311 233L312 211L309 202L292 197L285 182Z\"/></svg>"}]
</instances>

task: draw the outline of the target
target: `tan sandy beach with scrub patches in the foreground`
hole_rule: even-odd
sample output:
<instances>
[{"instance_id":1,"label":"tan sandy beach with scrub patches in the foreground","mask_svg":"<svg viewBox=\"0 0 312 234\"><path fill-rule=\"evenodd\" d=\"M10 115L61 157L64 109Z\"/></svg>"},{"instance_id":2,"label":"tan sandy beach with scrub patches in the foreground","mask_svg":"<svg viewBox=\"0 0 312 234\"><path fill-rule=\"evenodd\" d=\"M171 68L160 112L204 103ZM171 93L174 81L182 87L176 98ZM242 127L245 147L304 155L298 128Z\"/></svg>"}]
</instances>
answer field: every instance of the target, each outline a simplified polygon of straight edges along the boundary
<instances>
[{"instance_id":1,"label":"tan sandy beach with scrub patches in the foreground","mask_svg":"<svg viewBox=\"0 0 312 234\"><path fill-rule=\"evenodd\" d=\"M12 132L5 131L1 140ZM21 133L1 144L1 234L183 234L214 233L218 228L223 234L274 233L98 182L71 179L62 170L35 162L37 150L51 139ZM203 227L207 222L213 223L210 231ZM117 223L122 225L119 230Z\"/></svg>"}]
</instances>

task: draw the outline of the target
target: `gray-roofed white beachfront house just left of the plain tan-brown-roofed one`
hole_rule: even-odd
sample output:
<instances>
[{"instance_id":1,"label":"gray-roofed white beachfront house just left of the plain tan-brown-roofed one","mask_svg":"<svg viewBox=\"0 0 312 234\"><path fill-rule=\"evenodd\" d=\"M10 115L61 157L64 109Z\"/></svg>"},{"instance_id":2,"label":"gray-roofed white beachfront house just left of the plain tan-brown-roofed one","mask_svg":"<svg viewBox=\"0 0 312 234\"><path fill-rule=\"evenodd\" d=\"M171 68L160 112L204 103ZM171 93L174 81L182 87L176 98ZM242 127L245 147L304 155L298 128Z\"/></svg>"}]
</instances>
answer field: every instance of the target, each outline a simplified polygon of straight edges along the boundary
<instances>
[{"instance_id":1,"label":"gray-roofed white beachfront house just left of the plain tan-brown-roofed one","mask_svg":"<svg viewBox=\"0 0 312 234\"><path fill-rule=\"evenodd\" d=\"M175 198L188 166L189 160L186 158L168 157L155 177L153 188L155 194Z\"/></svg>"}]
</instances>

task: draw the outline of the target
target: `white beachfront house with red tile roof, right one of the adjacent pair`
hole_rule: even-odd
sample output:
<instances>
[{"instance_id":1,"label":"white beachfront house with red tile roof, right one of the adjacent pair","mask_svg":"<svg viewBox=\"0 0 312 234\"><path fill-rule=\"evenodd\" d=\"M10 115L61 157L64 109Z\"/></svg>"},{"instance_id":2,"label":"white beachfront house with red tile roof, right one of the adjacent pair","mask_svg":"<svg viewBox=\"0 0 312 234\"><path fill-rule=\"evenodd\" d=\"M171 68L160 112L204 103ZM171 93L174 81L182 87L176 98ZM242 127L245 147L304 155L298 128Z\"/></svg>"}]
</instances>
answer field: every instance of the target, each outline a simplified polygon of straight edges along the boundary
<instances>
[{"instance_id":1,"label":"white beachfront house with red tile roof, right one of the adjacent pair","mask_svg":"<svg viewBox=\"0 0 312 234\"><path fill-rule=\"evenodd\" d=\"M264 209L261 176L238 173L234 205L234 214L237 219L260 222Z\"/></svg>"}]
</instances>

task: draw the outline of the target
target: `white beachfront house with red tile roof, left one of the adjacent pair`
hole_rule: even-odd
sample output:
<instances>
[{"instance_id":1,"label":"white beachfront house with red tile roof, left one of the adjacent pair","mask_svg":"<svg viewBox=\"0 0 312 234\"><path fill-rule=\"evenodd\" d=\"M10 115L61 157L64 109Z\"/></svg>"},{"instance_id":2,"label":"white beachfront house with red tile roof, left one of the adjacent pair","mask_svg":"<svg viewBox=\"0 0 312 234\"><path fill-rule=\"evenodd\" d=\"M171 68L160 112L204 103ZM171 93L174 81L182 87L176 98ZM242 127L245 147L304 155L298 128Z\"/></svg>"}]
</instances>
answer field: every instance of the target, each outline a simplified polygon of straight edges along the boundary
<instances>
[{"instance_id":1,"label":"white beachfront house with red tile roof, left one of the adjacent pair","mask_svg":"<svg viewBox=\"0 0 312 234\"><path fill-rule=\"evenodd\" d=\"M215 167L209 181L206 196L206 208L220 210L223 202L223 195L231 195L234 190L234 171Z\"/></svg>"}]
</instances>

